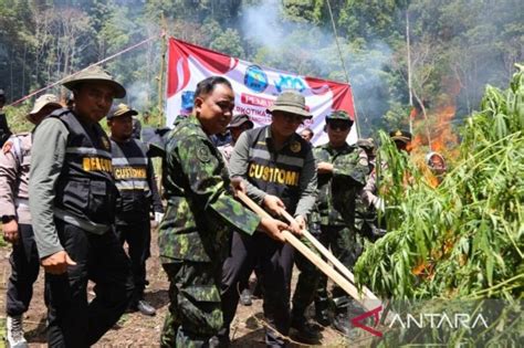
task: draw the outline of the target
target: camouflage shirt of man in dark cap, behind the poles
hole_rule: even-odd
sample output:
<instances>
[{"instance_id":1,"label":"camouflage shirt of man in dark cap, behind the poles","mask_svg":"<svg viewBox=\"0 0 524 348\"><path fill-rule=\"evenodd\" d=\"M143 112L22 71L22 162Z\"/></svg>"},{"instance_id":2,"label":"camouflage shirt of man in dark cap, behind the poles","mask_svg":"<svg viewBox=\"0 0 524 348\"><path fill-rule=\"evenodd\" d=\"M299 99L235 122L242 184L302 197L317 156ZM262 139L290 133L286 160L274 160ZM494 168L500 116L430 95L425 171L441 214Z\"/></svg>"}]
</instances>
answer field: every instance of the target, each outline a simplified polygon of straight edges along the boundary
<instances>
[{"instance_id":1,"label":"camouflage shirt of man in dark cap, behind the poles","mask_svg":"<svg viewBox=\"0 0 524 348\"><path fill-rule=\"evenodd\" d=\"M345 144L332 148L329 144L313 149L316 162L333 165L333 172L318 173L316 217L322 225L353 225L356 194L366 183L369 171L366 152Z\"/></svg>"}]
</instances>

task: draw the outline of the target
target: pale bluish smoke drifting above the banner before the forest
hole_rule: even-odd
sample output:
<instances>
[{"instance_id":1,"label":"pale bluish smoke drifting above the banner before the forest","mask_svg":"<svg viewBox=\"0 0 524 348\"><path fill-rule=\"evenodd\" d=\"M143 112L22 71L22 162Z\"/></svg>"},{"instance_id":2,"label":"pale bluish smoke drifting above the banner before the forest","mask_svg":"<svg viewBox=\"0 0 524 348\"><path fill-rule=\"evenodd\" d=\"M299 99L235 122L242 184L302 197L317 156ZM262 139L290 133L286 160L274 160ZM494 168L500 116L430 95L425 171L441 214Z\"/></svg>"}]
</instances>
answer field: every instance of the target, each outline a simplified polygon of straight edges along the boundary
<instances>
[{"instance_id":1,"label":"pale bluish smoke drifting above the banner before the forest","mask_svg":"<svg viewBox=\"0 0 524 348\"><path fill-rule=\"evenodd\" d=\"M344 83L349 80L359 119L381 117L389 108L385 66L392 60L392 50L386 42L374 40L363 46L338 38L340 54L332 30L287 20L276 0L244 8L240 28L259 52L266 52L256 56L264 65L276 63L280 66L272 67ZM370 129L361 133L367 135Z\"/></svg>"}]
</instances>

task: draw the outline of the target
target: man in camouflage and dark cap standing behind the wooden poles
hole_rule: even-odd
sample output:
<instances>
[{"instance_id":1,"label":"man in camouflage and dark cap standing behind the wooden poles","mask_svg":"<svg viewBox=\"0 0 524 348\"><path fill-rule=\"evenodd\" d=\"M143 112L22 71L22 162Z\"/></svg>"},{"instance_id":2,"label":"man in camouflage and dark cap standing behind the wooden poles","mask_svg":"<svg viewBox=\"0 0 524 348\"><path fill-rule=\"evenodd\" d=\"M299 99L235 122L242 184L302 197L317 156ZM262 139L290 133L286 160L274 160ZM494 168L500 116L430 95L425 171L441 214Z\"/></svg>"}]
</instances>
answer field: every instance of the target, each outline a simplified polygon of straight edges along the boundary
<instances>
[{"instance_id":1,"label":"man in camouflage and dark cap standing behind the wooden poles","mask_svg":"<svg viewBox=\"0 0 524 348\"><path fill-rule=\"evenodd\" d=\"M366 152L346 143L352 125L353 120L343 110L326 116L325 131L329 141L314 148L318 170L318 199L316 214L313 214L310 223L311 230L315 230L312 224L319 224L319 241L331 247L335 257L348 268L354 266L360 252L355 233L355 199L369 172ZM314 282L315 274L303 273L304 277L310 277L308 284ZM315 309L318 321L325 325L329 323L326 284L327 278L319 275ZM297 286L293 298L295 317L303 315L311 303L311 286L306 286L305 291L303 288ZM352 300L338 286L333 288L332 295L336 306L334 325L337 329L343 329L347 327L346 312ZM304 303L304 298L310 303Z\"/></svg>"}]
</instances>

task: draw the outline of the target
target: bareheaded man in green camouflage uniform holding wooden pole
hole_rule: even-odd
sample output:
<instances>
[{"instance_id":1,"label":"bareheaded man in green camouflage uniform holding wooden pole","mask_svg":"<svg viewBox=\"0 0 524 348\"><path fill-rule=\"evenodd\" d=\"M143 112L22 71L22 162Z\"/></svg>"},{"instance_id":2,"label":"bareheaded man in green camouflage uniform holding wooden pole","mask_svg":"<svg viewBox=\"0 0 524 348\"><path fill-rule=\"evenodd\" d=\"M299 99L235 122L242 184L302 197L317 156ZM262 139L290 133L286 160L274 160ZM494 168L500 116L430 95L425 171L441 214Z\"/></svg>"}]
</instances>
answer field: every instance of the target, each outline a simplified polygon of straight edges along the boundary
<instances>
[{"instance_id":1,"label":"bareheaded man in green camouflage uniform holding wooden pole","mask_svg":"<svg viewBox=\"0 0 524 348\"><path fill-rule=\"evenodd\" d=\"M229 192L228 170L210 136L228 126L234 107L231 84L208 77L197 85L193 115L168 138L164 187L168 202L158 244L169 286L163 347L217 347L222 327L220 278L230 231L262 229L282 241L286 224L260 219Z\"/></svg>"}]
</instances>

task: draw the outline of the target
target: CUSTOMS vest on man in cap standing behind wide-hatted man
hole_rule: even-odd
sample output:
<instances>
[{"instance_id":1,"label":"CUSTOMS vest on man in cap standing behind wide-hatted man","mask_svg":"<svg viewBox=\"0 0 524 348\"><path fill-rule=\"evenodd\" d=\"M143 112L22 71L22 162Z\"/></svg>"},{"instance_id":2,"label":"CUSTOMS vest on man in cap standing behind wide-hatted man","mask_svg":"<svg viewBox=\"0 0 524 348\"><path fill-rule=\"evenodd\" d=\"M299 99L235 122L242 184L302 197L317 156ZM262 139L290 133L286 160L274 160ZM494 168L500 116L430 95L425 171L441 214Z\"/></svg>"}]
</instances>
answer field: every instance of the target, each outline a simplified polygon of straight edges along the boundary
<instances>
[{"instance_id":1,"label":"CUSTOMS vest on man in cap standing behind wide-hatted man","mask_svg":"<svg viewBox=\"0 0 524 348\"><path fill-rule=\"evenodd\" d=\"M119 192L116 208L116 222L149 219L151 191L147 181L147 149L134 138L125 143L111 140L113 155L113 176Z\"/></svg>"}]
</instances>

